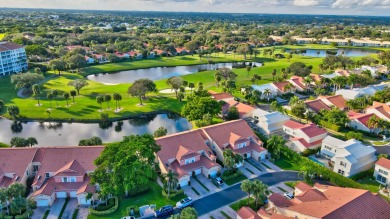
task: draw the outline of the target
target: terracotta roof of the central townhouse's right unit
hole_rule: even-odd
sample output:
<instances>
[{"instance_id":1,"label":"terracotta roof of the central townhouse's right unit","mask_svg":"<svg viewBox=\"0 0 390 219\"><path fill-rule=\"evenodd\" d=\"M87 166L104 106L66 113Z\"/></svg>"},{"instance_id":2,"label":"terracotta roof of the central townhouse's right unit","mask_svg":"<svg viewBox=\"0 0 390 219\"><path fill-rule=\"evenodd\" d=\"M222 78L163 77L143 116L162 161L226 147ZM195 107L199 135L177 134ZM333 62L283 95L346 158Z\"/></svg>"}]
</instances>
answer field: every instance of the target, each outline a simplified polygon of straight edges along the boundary
<instances>
[{"instance_id":1,"label":"terracotta roof of the central townhouse's right unit","mask_svg":"<svg viewBox=\"0 0 390 219\"><path fill-rule=\"evenodd\" d=\"M224 145L229 144L230 134L232 132L245 139L253 137L262 144L249 125L241 119L204 127L203 130L221 148L223 148Z\"/></svg>"}]
</instances>

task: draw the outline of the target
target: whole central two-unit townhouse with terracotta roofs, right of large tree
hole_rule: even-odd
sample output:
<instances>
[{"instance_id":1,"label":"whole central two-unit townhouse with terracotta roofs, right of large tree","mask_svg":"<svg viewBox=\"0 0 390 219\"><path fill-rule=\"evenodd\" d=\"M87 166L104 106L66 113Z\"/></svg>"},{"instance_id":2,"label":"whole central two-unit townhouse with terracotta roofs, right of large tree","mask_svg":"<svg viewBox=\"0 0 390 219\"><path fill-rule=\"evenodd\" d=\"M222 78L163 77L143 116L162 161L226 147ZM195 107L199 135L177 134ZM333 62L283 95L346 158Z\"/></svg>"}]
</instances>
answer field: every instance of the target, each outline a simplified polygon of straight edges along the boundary
<instances>
[{"instance_id":1,"label":"whole central two-unit townhouse with terracotta roofs, right of large tree","mask_svg":"<svg viewBox=\"0 0 390 219\"><path fill-rule=\"evenodd\" d=\"M161 172L177 173L181 187L187 186L193 175L216 176L221 171L216 159L223 162L226 149L255 159L265 159L267 154L263 143L244 120L164 136L157 138L156 143L161 146L156 154Z\"/></svg>"}]
</instances>

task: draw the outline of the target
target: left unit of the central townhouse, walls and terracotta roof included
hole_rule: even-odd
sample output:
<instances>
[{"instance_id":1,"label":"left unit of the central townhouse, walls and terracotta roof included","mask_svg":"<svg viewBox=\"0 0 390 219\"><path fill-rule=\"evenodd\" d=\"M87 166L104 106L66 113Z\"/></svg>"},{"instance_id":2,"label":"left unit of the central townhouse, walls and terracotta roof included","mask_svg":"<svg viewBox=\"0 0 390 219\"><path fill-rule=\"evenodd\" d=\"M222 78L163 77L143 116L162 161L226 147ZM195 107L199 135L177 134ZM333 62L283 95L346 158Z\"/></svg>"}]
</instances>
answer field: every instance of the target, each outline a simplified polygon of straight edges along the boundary
<instances>
[{"instance_id":1,"label":"left unit of the central townhouse, walls and terracotta roof included","mask_svg":"<svg viewBox=\"0 0 390 219\"><path fill-rule=\"evenodd\" d=\"M157 138L156 143L161 146L157 152L161 172L177 173L181 187L187 186L193 175L216 176L221 167L207 142L202 129Z\"/></svg>"}]
</instances>

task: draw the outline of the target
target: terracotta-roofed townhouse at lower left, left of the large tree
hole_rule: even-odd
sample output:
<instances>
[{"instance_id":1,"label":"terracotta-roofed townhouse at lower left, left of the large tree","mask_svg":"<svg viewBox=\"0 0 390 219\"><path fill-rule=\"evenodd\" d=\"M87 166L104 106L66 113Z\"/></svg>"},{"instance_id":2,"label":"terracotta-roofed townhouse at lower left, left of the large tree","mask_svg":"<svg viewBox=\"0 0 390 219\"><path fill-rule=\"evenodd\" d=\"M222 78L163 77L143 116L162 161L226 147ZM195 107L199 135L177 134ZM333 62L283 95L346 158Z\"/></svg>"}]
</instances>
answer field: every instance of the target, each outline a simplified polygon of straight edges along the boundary
<instances>
[{"instance_id":1,"label":"terracotta-roofed townhouse at lower left, left of the large tree","mask_svg":"<svg viewBox=\"0 0 390 219\"><path fill-rule=\"evenodd\" d=\"M0 150L0 187L12 183L26 185L33 178L30 195L37 206L51 206L57 198L77 198L89 205L88 193L95 193L88 173L95 170L94 160L103 146L36 147Z\"/></svg>"}]
</instances>

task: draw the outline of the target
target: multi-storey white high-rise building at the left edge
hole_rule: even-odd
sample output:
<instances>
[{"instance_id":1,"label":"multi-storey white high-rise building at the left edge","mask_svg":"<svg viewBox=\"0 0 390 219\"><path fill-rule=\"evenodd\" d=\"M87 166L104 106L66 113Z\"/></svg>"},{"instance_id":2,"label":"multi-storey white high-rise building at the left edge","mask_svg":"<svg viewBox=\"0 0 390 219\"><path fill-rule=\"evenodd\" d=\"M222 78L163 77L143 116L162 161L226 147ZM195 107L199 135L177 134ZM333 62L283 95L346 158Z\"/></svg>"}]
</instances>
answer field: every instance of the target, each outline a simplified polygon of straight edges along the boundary
<instances>
[{"instance_id":1,"label":"multi-storey white high-rise building at the left edge","mask_svg":"<svg viewBox=\"0 0 390 219\"><path fill-rule=\"evenodd\" d=\"M26 71L27 57L23 46L0 42L0 77Z\"/></svg>"}]
</instances>

